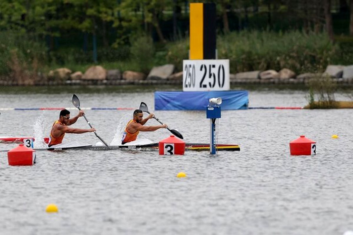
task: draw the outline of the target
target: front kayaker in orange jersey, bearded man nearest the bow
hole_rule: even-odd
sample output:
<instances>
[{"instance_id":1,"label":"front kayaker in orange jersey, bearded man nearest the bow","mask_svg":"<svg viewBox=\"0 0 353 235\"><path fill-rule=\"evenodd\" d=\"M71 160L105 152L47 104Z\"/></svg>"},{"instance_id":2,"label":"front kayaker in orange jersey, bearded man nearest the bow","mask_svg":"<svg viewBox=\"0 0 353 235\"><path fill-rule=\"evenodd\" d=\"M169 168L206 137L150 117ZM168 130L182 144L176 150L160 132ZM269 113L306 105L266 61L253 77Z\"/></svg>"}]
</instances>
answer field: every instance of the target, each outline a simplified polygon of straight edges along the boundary
<instances>
[{"instance_id":1,"label":"front kayaker in orange jersey, bearded man nearest the bow","mask_svg":"<svg viewBox=\"0 0 353 235\"><path fill-rule=\"evenodd\" d=\"M121 144L126 144L128 142L134 141L140 131L155 131L160 128L167 128L166 124L157 126L144 126L144 124L154 117L153 113L150 113L148 117L143 119L143 112L140 109L133 111L133 119L130 120L124 130L122 135Z\"/></svg>"}]
</instances>

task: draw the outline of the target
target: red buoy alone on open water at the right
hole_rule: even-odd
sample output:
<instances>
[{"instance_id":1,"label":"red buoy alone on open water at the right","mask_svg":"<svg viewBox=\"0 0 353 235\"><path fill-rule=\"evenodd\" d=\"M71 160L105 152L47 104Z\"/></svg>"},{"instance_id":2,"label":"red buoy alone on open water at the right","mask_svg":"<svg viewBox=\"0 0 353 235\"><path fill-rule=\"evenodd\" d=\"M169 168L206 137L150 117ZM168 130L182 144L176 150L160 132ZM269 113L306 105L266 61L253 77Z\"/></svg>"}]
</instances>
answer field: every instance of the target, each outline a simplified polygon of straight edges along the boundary
<instances>
[{"instance_id":1,"label":"red buoy alone on open water at the right","mask_svg":"<svg viewBox=\"0 0 353 235\"><path fill-rule=\"evenodd\" d=\"M309 140L304 135L289 142L291 155L316 155L316 142Z\"/></svg>"}]
</instances>

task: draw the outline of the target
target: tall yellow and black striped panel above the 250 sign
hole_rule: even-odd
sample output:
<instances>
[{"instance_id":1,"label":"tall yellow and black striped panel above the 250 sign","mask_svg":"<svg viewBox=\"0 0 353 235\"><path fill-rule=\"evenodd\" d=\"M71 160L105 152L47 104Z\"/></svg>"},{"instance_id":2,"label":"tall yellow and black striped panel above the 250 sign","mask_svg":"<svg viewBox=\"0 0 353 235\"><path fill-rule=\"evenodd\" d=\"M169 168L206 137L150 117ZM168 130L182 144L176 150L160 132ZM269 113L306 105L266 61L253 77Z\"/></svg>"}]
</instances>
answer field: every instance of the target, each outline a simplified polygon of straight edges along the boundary
<instances>
[{"instance_id":1,"label":"tall yellow and black striped panel above the 250 sign","mask_svg":"<svg viewBox=\"0 0 353 235\"><path fill-rule=\"evenodd\" d=\"M216 59L216 5L190 4L190 60Z\"/></svg>"}]
</instances>

